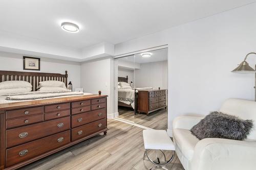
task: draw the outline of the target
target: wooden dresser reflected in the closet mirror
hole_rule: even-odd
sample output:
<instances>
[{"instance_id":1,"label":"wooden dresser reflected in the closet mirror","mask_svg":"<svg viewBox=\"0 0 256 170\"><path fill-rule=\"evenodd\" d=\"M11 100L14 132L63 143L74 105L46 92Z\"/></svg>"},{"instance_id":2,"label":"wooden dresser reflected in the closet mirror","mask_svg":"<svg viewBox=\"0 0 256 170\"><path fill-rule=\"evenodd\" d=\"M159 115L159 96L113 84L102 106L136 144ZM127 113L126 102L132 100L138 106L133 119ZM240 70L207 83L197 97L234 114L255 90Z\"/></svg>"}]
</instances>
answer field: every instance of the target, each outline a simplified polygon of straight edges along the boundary
<instances>
[{"instance_id":1,"label":"wooden dresser reflected in the closet mirror","mask_svg":"<svg viewBox=\"0 0 256 170\"><path fill-rule=\"evenodd\" d=\"M150 114L166 107L166 90L138 90L138 112Z\"/></svg>"}]
</instances>

